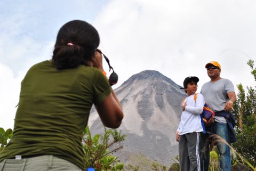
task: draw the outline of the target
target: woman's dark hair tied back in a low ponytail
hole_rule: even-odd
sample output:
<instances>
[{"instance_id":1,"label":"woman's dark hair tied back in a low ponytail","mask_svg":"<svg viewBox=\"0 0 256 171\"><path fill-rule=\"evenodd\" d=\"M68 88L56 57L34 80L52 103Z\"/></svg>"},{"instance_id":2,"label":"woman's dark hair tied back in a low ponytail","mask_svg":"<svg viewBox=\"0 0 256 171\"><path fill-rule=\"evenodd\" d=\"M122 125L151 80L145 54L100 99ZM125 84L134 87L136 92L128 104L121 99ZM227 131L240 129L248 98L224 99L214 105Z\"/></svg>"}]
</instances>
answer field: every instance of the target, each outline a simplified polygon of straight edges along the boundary
<instances>
[{"instance_id":1,"label":"woman's dark hair tied back in a low ponytail","mask_svg":"<svg viewBox=\"0 0 256 171\"><path fill-rule=\"evenodd\" d=\"M100 36L92 25L81 20L69 21L58 32L52 61L58 70L87 66L99 44Z\"/></svg>"}]
</instances>

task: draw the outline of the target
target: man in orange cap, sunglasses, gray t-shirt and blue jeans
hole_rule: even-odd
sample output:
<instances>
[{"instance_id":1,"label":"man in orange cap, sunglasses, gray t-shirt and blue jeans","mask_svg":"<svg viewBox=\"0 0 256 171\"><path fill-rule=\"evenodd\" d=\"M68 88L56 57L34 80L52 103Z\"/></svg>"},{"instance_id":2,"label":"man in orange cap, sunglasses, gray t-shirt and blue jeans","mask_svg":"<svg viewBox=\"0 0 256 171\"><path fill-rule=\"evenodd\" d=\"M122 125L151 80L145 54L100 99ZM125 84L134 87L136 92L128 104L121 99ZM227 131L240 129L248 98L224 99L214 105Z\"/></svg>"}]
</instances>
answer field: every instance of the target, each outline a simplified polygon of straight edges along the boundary
<instances>
[{"instance_id":1,"label":"man in orange cap, sunglasses, gray t-shirt and blue jeans","mask_svg":"<svg viewBox=\"0 0 256 171\"><path fill-rule=\"evenodd\" d=\"M236 102L234 85L230 80L220 77L221 66L216 61L205 65L210 82L203 85L201 93L205 103L215 112L213 133L225 139L227 143L236 141L234 132L234 117L230 112ZM225 143L217 144L220 153L220 167L223 171L231 170L230 148ZM207 164L206 164L207 165Z\"/></svg>"}]
</instances>

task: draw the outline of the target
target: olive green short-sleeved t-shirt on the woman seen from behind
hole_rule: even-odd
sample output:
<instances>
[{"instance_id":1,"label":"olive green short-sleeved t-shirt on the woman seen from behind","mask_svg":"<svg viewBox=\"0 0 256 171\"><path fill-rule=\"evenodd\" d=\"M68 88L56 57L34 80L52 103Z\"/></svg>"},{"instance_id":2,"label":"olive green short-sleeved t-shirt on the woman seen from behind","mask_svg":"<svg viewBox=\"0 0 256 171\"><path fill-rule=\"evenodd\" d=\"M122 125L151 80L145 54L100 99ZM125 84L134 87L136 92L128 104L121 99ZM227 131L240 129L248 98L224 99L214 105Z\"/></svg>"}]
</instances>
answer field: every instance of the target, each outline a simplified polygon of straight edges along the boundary
<instances>
[{"instance_id":1,"label":"olive green short-sleeved t-shirt on the woman seen from behind","mask_svg":"<svg viewBox=\"0 0 256 171\"><path fill-rule=\"evenodd\" d=\"M110 93L107 78L96 68L57 70L51 61L35 64L22 80L13 137L0 161L53 155L84 169L82 132L92 104Z\"/></svg>"}]
</instances>

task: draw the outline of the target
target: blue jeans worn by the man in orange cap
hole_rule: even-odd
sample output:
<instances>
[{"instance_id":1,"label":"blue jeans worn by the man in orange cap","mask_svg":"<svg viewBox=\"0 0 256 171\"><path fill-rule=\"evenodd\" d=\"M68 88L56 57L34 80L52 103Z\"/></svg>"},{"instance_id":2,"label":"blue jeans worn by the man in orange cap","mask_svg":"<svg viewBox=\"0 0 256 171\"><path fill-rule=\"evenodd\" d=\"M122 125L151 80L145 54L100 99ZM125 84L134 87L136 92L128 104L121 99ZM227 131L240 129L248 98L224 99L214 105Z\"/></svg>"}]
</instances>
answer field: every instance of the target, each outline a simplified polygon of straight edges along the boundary
<instances>
[{"instance_id":1,"label":"blue jeans worn by the man in orange cap","mask_svg":"<svg viewBox=\"0 0 256 171\"><path fill-rule=\"evenodd\" d=\"M225 139L228 144L230 144L230 136L228 125L225 123L216 123L216 133L221 136L222 139ZM219 153L220 153L220 168L223 171L231 170L231 157L230 157L230 148L225 143L217 144Z\"/></svg>"}]
</instances>

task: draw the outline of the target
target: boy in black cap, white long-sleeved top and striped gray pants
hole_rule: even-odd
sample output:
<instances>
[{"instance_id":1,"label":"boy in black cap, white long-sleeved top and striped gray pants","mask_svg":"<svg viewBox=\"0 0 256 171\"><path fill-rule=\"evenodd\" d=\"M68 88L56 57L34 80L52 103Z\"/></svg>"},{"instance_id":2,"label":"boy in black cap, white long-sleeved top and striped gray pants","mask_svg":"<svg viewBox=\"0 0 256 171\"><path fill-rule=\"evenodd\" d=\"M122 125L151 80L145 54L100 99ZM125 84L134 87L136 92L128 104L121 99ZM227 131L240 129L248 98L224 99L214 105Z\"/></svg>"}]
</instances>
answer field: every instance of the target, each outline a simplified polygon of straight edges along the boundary
<instances>
[{"instance_id":1,"label":"boy in black cap, white long-sleeved top and striped gray pants","mask_svg":"<svg viewBox=\"0 0 256 171\"><path fill-rule=\"evenodd\" d=\"M176 133L176 141L179 142L181 171L208 170L208 168L204 168L202 160L205 136L200 114L203 112L204 96L197 94L196 101L194 99L198 82L197 77L187 77L183 82L188 97L182 100L181 120Z\"/></svg>"}]
</instances>

